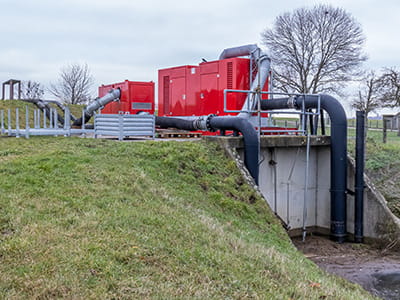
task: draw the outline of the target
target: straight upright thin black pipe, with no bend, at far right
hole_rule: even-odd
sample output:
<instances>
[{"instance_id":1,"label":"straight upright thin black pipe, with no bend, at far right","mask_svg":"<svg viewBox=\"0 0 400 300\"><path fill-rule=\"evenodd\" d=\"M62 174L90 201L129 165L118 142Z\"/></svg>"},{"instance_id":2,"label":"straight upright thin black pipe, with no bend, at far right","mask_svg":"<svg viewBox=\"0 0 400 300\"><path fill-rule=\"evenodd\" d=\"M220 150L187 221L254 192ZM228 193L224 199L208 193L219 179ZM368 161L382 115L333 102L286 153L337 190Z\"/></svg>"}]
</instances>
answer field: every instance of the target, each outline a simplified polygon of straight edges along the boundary
<instances>
[{"instance_id":1,"label":"straight upright thin black pipe, with no bend, at far right","mask_svg":"<svg viewBox=\"0 0 400 300\"><path fill-rule=\"evenodd\" d=\"M354 241L362 243L363 211L364 211L364 153L365 153L365 112L357 111L356 127L356 174L355 174L355 203L354 203Z\"/></svg>"}]
</instances>

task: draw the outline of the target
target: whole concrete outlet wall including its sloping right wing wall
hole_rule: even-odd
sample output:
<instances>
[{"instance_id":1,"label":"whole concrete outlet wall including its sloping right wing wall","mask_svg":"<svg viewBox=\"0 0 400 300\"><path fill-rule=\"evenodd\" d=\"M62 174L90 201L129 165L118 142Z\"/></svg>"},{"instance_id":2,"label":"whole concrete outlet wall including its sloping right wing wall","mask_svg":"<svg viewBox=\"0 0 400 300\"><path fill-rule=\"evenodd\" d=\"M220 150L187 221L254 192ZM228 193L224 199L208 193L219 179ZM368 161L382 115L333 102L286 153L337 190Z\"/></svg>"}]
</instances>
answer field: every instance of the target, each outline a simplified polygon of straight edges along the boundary
<instances>
[{"instance_id":1,"label":"whole concrete outlet wall including its sloping right wing wall","mask_svg":"<svg viewBox=\"0 0 400 300\"><path fill-rule=\"evenodd\" d=\"M226 149L235 149L243 160L241 138L208 137ZM301 233L304 204L307 231L329 233L330 228L330 139L312 137L308 188L306 138L268 136L261 138L259 190L271 209L294 233ZM242 164L239 165L239 167ZM354 190L354 163L348 163L348 188ZM383 196L365 176L364 235L385 242L400 241L400 220L388 209ZM347 196L347 231L354 233L354 197ZM400 245L400 242L399 242Z\"/></svg>"}]
</instances>

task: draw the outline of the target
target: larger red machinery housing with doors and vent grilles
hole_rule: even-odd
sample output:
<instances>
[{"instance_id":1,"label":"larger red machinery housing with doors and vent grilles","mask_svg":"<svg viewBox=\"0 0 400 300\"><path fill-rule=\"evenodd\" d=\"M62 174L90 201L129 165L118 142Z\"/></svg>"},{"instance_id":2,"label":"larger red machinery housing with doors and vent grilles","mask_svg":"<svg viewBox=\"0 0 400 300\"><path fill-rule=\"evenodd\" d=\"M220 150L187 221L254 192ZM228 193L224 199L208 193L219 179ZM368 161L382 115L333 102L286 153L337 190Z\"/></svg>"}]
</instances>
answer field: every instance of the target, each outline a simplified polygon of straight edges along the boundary
<instances>
[{"instance_id":1,"label":"larger red machinery housing with doors and vent grilles","mask_svg":"<svg viewBox=\"0 0 400 300\"><path fill-rule=\"evenodd\" d=\"M228 58L158 71L158 115L236 115L224 111L224 90L250 89L250 59ZM268 81L263 91L268 90ZM247 93L227 94L226 109L241 110Z\"/></svg>"}]
</instances>

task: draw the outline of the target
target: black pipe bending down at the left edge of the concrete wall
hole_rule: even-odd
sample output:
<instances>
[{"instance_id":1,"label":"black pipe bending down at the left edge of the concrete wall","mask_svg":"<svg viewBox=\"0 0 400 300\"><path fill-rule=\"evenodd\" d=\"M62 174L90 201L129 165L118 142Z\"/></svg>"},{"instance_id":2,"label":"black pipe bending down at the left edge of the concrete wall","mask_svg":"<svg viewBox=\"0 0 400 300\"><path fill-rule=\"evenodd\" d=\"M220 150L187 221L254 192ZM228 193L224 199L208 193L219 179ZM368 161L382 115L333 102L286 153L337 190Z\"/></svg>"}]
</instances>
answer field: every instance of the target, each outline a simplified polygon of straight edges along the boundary
<instances>
[{"instance_id":1,"label":"black pipe bending down at the left edge of the concrete wall","mask_svg":"<svg viewBox=\"0 0 400 300\"><path fill-rule=\"evenodd\" d=\"M244 164L258 185L259 141L257 131L246 119L239 117L200 117L195 120L184 120L173 117L156 117L156 125L161 128L178 128L183 130L233 130L241 132L244 140Z\"/></svg>"}]
</instances>

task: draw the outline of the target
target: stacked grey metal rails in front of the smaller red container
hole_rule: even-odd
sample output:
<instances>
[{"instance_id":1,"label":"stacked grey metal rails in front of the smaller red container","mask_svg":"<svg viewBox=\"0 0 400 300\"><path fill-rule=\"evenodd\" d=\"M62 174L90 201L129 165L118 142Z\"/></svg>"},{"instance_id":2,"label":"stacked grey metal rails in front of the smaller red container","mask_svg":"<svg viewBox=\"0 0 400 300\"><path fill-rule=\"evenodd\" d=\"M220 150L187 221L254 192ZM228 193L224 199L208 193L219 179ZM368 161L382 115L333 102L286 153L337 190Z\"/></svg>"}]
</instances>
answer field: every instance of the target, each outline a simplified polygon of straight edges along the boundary
<instances>
[{"instance_id":1,"label":"stacked grey metal rails in front of the smaller red container","mask_svg":"<svg viewBox=\"0 0 400 300\"><path fill-rule=\"evenodd\" d=\"M153 115L97 114L94 117L94 135L117 136L121 141L129 136L155 137Z\"/></svg>"}]
</instances>

